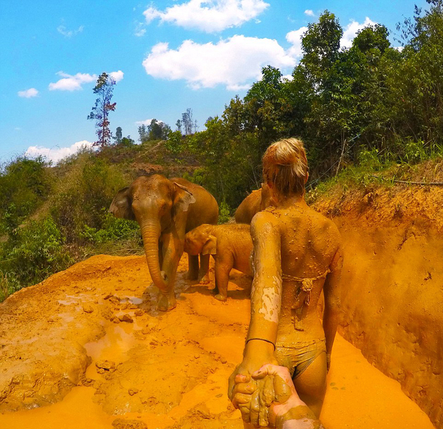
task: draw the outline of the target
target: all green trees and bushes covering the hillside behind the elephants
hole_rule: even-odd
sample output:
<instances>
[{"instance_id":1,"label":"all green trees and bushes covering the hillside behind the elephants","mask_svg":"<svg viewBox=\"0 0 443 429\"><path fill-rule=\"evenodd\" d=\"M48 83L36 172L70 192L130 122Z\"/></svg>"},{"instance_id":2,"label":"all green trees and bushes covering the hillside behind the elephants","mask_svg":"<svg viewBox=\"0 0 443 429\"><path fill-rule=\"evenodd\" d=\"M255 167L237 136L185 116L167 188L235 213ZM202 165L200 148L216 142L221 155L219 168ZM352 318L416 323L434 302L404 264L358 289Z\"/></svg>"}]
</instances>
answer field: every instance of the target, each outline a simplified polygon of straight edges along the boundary
<instances>
[{"instance_id":1,"label":"all green trees and bushes covering the hillside behind the elephants","mask_svg":"<svg viewBox=\"0 0 443 429\"><path fill-rule=\"evenodd\" d=\"M265 67L204 131L188 109L176 131L157 121L141 126L140 145L118 127L114 145L56 166L26 157L3 166L0 300L94 253L143 251L138 225L107 213L116 191L140 174L204 185L226 221L259 188L262 154L279 138L305 141L309 199L334 183L367 186L382 170L386 179L408 178L415 163L442 156L443 0L427 1L429 10L416 8L399 25L401 50L379 24L340 48L343 29L325 11L302 38L291 78Z\"/></svg>"}]
</instances>

